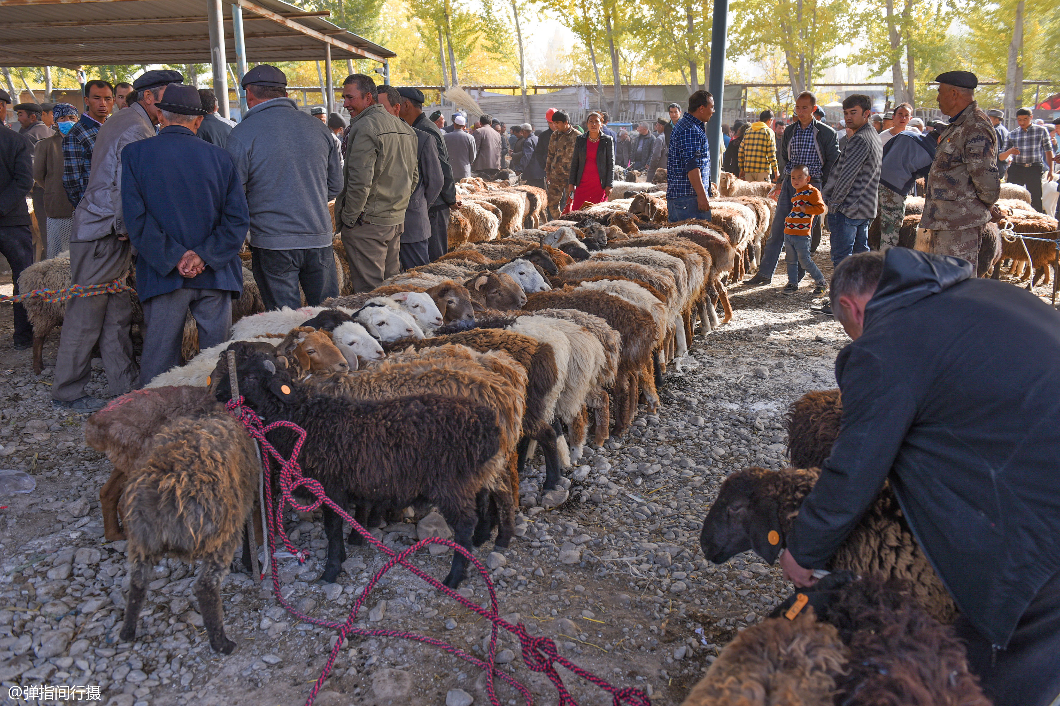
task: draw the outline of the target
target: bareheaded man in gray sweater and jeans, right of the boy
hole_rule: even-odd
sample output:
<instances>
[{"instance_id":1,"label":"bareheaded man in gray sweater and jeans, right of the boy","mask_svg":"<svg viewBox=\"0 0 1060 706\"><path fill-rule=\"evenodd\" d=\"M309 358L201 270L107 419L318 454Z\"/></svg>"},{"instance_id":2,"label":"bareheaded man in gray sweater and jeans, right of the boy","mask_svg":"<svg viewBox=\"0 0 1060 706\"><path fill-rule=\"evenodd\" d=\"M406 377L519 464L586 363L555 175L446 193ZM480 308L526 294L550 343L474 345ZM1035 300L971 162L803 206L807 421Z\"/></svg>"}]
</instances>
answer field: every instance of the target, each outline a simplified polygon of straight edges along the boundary
<instances>
[{"instance_id":1,"label":"bareheaded man in gray sweater and jeans, right of the boy","mask_svg":"<svg viewBox=\"0 0 1060 706\"><path fill-rule=\"evenodd\" d=\"M853 133L847 139L838 161L822 189L828 204L832 265L853 253L868 251L868 225L876 218L883 145L869 122L872 101L867 95L848 95L843 101L843 117ZM831 314L831 308L822 307Z\"/></svg>"}]
</instances>

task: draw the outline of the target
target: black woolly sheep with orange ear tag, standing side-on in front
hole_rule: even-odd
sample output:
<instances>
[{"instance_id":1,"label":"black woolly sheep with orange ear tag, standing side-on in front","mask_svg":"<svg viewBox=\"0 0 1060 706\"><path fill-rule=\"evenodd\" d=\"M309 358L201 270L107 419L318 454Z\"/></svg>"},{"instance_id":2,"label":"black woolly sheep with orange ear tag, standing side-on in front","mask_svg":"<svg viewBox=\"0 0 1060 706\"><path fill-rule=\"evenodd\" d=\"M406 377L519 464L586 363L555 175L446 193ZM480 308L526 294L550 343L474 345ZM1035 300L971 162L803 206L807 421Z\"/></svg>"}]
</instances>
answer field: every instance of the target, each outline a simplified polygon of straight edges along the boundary
<instances>
[{"instance_id":1,"label":"black woolly sheep with orange ear tag, standing side-on in front","mask_svg":"<svg viewBox=\"0 0 1060 706\"><path fill-rule=\"evenodd\" d=\"M240 344L234 344L238 346ZM406 507L435 504L454 540L472 550L479 493L491 482L488 461L497 453L500 430L493 410L463 400L418 395L377 402L315 392L254 351L236 362L245 403L268 424L287 420L306 432L299 456L302 473L319 481L332 502ZM227 365L216 370L217 399L231 397ZM297 437L285 429L269 441L289 456ZM342 521L323 506L328 558L321 581L333 583L346 560ZM455 553L443 583L456 589L467 560Z\"/></svg>"}]
</instances>

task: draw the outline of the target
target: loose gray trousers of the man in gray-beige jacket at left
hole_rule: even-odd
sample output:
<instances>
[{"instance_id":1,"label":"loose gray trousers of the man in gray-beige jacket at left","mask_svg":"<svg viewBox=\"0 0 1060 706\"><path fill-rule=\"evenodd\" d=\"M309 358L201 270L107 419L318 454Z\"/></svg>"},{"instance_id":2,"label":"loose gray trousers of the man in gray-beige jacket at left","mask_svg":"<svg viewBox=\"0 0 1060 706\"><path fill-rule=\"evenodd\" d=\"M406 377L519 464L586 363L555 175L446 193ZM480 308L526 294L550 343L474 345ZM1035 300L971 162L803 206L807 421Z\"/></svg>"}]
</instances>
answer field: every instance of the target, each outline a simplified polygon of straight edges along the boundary
<instances>
[{"instance_id":1,"label":"loose gray trousers of the man in gray-beige jacket at left","mask_svg":"<svg viewBox=\"0 0 1060 706\"><path fill-rule=\"evenodd\" d=\"M99 240L70 243L70 280L75 285L106 284L129 267L129 241L107 235ZM67 302L63 334L55 361L52 398L64 402L85 396L92 379L92 348L100 344L107 393L124 395L136 386L132 358L132 301L129 292L75 296Z\"/></svg>"}]
</instances>

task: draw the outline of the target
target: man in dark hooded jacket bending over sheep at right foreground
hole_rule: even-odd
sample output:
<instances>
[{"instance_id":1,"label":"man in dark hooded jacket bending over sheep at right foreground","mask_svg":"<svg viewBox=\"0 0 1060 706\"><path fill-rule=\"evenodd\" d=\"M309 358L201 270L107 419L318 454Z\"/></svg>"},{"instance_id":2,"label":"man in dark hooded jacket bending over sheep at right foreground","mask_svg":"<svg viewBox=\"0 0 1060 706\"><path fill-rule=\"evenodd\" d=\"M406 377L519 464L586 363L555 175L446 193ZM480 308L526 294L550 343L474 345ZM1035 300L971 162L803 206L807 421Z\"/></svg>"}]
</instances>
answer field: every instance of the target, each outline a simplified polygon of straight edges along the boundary
<instances>
[{"instance_id":1,"label":"man in dark hooded jacket bending over sheep at right foreground","mask_svg":"<svg viewBox=\"0 0 1060 706\"><path fill-rule=\"evenodd\" d=\"M798 586L889 479L997 706L1060 692L1060 313L965 260L891 248L835 268L842 432L780 557Z\"/></svg>"}]
</instances>

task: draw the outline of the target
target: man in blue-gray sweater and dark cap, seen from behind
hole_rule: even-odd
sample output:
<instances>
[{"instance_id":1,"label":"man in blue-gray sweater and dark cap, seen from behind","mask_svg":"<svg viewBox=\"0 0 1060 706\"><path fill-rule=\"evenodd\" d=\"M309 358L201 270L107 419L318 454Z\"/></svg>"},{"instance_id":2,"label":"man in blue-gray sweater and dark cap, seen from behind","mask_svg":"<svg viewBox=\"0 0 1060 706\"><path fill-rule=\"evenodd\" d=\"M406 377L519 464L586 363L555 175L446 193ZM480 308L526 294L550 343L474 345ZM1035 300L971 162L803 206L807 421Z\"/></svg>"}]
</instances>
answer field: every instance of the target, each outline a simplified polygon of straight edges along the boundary
<instances>
[{"instance_id":1,"label":"man in blue-gray sweater and dark cap, seen from behind","mask_svg":"<svg viewBox=\"0 0 1060 706\"><path fill-rule=\"evenodd\" d=\"M287 97L287 77L261 65L243 76L247 107L225 148L247 193L254 282L266 309L338 296L328 201L342 191L328 126Z\"/></svg>"}]
</instances>

